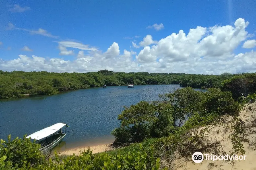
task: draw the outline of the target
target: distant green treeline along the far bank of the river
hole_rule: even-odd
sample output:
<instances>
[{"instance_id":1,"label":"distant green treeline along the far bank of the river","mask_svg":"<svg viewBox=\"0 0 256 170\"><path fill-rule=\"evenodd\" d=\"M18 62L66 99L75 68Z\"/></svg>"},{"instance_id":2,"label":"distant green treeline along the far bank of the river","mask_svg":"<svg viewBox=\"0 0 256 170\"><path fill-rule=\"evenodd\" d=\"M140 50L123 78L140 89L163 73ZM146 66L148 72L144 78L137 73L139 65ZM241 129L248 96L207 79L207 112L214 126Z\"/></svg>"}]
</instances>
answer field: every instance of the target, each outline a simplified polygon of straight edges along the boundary
<instances>
[{"instance_id":1,"label":"distant green treeline along the far bank of the river","mask_svg":"<svg viewBox=\"0 0 256 170\"><path fill-rule=\"evenodd\" d=\"M90 73L50 73L1 71L0 98L16 98L24 95L52 95L68 90L127 84L180 84L183 87L218 88L235 75L194 75L184 73L125 73L101 70Z\"/></svg>"}]
</instances>

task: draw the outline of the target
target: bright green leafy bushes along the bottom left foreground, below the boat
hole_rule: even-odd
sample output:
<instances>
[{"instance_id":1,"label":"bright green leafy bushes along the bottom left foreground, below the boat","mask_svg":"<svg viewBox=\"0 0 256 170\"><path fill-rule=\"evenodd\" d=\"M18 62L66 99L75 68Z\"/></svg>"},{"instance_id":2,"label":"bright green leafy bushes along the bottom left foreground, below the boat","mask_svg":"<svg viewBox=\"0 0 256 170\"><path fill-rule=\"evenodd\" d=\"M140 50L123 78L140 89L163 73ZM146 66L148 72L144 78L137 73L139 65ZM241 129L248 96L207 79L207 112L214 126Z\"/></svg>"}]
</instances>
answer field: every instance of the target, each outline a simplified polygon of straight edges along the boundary
<instances>
[{"instance_id":1,"label":"bright green leafy bushes along the bottom left foreground, below the boat","mask_svg":"<svg viewBox=\"0 0 256 170\"><path fill-rule=\"evenodd\" d=\"M29 139L28 139L29 140ZM5 143L2 141L2 143ZM99 153L92 154L91 150L81 153L80 156L67 156L62 160L55 152L54 161L44 159L44 155L34 143L27 140L15 139L5 143L1 147L0 169L2 170L158 170L160 168L160 158L154 157L153 148L148 148L148 152L143 151L140 145L140 151L132 150L123 154L117 151L112 154ZM31 148L35 146L35 148ZM14 150L15 149L15 150ZM14 152L17 153L14 153Z\"/></svg>"}]
</instances>

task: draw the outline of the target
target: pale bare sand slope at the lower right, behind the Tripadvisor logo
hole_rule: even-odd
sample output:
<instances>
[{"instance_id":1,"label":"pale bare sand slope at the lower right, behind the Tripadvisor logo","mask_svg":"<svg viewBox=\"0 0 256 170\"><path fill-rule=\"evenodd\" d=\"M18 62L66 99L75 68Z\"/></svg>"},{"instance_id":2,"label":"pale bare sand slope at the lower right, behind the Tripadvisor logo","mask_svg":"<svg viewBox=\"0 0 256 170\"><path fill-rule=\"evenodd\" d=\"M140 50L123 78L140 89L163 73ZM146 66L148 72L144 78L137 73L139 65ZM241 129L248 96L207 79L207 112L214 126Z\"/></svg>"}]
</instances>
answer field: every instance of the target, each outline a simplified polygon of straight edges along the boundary
<instances>
[{"instance_id":1,"label":"pale bare sand slope at the lower right, behind the Tripadvisor logo","mask_svg":"<svg viewBox=\"0 0 256 170\"><path fill-rule=\"evenodd\" d=\"M239 118L245 122L245 140L242 144L245 150L245 160L238 161L225 161L225 160L203 160L201 163L194 163L192 161L192 155L189 161L184 161L181 163L181 160L176 160L176 167L174 169L178 170L256 170L256 103L246 104L243 108L243 111L240 112ZM231 154L234 152L232 149L233 144L230 140L233 130L231 128L232 118L230 116L223 116L219 125L207 126L200 128L201 130L206 130L204 132L205 137L212 142L220 142L219 149L226 154ZM203 153L203 154L213 154L212 153ZM180 166L178 166L180 165Z\"/></svg>"}]
</instances>

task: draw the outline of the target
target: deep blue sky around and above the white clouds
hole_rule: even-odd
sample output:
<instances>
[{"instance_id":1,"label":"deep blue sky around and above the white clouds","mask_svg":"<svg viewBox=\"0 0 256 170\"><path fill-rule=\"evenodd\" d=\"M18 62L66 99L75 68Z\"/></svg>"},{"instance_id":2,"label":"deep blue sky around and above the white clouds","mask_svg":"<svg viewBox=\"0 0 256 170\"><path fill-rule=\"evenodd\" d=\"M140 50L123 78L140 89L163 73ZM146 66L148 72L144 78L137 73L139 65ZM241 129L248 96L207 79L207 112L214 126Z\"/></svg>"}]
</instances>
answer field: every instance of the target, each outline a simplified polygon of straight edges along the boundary
<instances>
[{"instance_id":1,"label":"deep blue sky around and above the white clouds","mask_svg":"<svg viewBox=\"0 0 256 170\"><path fill-rule=\"evenodd\" d=\"M130 63L130 65L124 67L127 68L128 66L136 64L137 67L131 67L131 71L134 69L135 71L145 71L149 66L149 62L141 60L138 56L146 45L134 48L132 41L138 45L139 42L143 41L143 38L146 37L146 35L151 35L152 40L156 43L147 43L147 46L152 50L152 46L157 46L160 39L164 39L172 33L178 34L181 29L187 35L189 29L197 28L197 26L206 27L207 29L214 25L232 25L235 27L234 22L238 18L243 18L245 22L249 22L245 29L249 36L245 35L244 39L241 39L238 45L230 49L230 55L251 52L251 50L255 50L255 47L248 49L242 48L241 46L246 40L255 39L255 37L253 37L253 34L256 33L255 7L256 1L254 0L160 2L151 0L94 0L76 1L75 3L73 1L60 2L49 0L3 0L0 5L0 59L2 59L1 62L5 65L0 65L0 69L8 71L15 69L31 71L32 68L26 69L26 67L17 66L10 69L7 68L6 63L19 58L19 55L25 55L29 58L31 58L32 55L35 55L45 58L46 62L51 58L61 58L63 61L70 62L75 61L77 59L77 54L81 49L70 48L64 45L67 48L67 51L73 50L73 52L70 52L72 55L59 55L60 49L58 48L58 42L69 41L88 45L89 48L96 48L101 53L100 55L103 55L113 42L116 42L120 51L120 54L118 54L119 56L123 54L123 50L125 49L129 52L133 52L133 54L131 54L131 62L135 63ZM159 25L161 23L163 27L161 27L160 30L154 29L153 26L148 27L153 24ZM12 27L10 27L10 24ZM9 30L7 30L8 27ZM38 32L36 32L40 28L43 29L43 34L38 34ZM137 38L135 38L135 36ZM207 34L205 36L207 36ZM21 50L24 46L32 51ZM184 52L184 49L181 51ZM224 53L222 54L224 55ZM91 50L84 50L84 55L86 54L90 54L90 57L92 58L95 57L91 54ZM158 62L161 58L161 54L163 55L165 52L160 51L158 54L159 55L157 55L157 59L154 62ZM168 56L163 56L163 60L170 57L168 61L175 64L172 54L173 53L171 52ZM155 54L150 52L150 55ZM188 55L191 56L192 53L188 52ZM255 55L255 53L253 55ZM194 58L196 59L197 57ZM199 57L204 58L205 56ZM230 57L231 56L227 56L226 59ZM102 58L104 58L104 55ZM112 59L116 60L114 57ZM111 63L111 61L109 63ZM102 67L100 67L100 63L90 63L90 68L92 68L94 64L98 65L98 69L111 68L114 70L121 70L121 68L114 67L113 65L106 65L106 63L105 65L102 64ZM154 64L159 63L151 63L151 66ZM51 65L51 67L55 66ZM171 65L165 65L165 68L168 69L169 67L171 67ZM51 71L46 69L46 67L33 69L37 71ZM65 70L65 68L63 70ZM93 69L85 68L84 72L90 70ZM146 71L150 70L152 69ZM158 71L158 69L153 70ZM232 69L227 69L227 71L229 70L232 71ZM61 72L62 70L53 69L52 71ZM68 72L72 71L73 70L68 70ZM124 69L124 71L129 71L129 69ZM159 71L175 72L175 70L170 68L168 71L160 69ZM189 71L194 72L193 69L188 69L185 72ZM209 73L211 72L209 71Z\"/></svg>"}]
</instances>

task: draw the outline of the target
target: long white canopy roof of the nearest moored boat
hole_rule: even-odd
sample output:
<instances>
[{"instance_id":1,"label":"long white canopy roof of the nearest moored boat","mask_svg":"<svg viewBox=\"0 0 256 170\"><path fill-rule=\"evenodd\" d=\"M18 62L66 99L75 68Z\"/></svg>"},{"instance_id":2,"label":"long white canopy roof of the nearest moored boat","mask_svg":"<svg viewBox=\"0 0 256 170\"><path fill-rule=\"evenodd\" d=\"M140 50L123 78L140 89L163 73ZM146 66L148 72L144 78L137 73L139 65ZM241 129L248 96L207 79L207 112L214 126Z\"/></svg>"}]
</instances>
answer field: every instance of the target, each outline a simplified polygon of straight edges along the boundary
<instances>
[{"instance_id":1,"label":"long white canopy roof of the nearest moored boat","mask_svg":"<svg viewBox=\"0 0 256 170\"><path fill-rule=\"evenodd\" d=\"M63 128L64 126L66 126L65 123L56 123L56 124L54 124L52 126L49 126L48 128L44 128L44 129L42 129L40 131L37 131L37 132L27 136L26 138L31 137L31 139L40 140L40 139L48 137L51 134L57 132L59 129Z\"/></svg>"}]
</instances>

